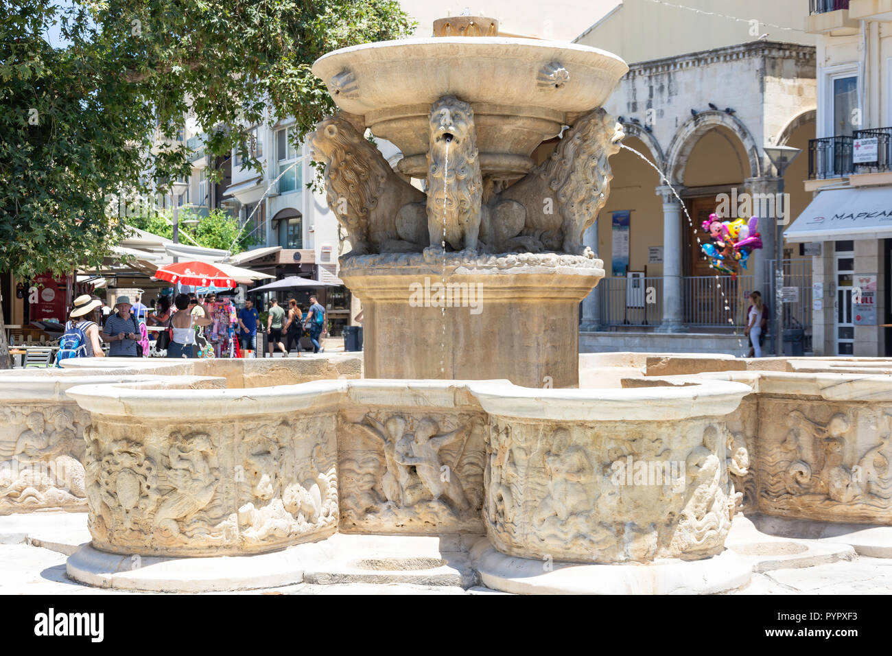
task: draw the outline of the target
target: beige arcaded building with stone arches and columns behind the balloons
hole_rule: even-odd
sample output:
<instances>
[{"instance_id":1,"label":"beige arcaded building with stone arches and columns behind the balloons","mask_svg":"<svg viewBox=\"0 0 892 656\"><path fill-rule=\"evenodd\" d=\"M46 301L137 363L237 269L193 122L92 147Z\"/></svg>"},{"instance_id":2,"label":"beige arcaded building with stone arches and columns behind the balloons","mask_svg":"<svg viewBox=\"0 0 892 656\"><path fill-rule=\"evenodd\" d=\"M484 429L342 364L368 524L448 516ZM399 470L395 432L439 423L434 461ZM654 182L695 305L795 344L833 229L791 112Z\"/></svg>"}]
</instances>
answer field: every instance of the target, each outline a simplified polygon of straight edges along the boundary
<instances>
[{"instance_id":1,"label":"beige arcaded building with stone arches and columns behind the balloons","mask_svg":"<svg viewBox=\"0 0 892 656\"><path fill-rule=\"evenodd\" d=\"M814 36L772 28L801 26L802 17L768 3L764 12L747 7L760 16L756 36L727 4L685 5L626 2L578 39L630 62L606 109L623 122L624 145L648 160L629 150L611 159L611 194L589 234L607 278L583 303L583 352L741 354L749 292L760 291L773 310L774 234L784 218L764 147L805 151L815 136ZM634 29L647 37L632 37ZM712 47L690 52L699 44ZM806 170L802 157L784 175L787 220L810 201ZM701 224L723 199L738 201L742 214L731 218L760 218L764 247L735 276L712 269L700 251L709 241ZM783 285L799 297L785 303L792 353L811 350L810 268L799 245L785 245Z\"/></svg>"}]
</instances>

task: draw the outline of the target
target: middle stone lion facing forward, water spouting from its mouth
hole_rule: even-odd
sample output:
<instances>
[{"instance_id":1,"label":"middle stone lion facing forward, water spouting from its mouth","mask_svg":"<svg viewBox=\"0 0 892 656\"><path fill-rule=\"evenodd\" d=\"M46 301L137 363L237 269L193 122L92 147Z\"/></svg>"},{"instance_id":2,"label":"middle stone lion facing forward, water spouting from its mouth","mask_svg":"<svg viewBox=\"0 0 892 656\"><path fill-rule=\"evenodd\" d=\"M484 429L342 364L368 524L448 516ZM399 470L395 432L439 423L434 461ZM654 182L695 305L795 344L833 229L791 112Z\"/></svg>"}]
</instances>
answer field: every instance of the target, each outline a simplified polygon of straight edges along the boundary
<instances>
[{"instance_id":1,"label":"middle stone lion facing forward, water spouting from its mouth","mask_svg":"<svg viewBox=\"0 0 892 656\"><path fill-rule=\"evenodd\" d=\"M480 233L483 177L474 110L446 95L431 106L427 151L427 229L430 245L475 251Z\"/></svg>"}]
</instances>

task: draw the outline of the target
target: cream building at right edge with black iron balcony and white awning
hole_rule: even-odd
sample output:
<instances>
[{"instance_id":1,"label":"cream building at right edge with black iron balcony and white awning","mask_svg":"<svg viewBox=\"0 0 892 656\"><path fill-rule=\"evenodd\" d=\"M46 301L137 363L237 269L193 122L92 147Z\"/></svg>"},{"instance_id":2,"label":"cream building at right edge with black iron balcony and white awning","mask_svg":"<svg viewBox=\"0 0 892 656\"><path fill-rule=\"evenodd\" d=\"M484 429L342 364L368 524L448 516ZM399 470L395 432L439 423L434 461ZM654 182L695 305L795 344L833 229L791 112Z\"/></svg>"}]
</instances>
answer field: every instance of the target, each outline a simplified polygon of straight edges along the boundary
<instances>
[{"instance_id":1,"label":"cream building at right edge with black iron balcony and white awning","mask_svg":"<svg viewBox=\"0 0 892 656\"><path fill-rule=\"evenodd\" d=\"M814 353L886 355L892 262L892 4L812 0L817 134L808 207L786 230L814 253Z\"/></svg>"}]
</instances>

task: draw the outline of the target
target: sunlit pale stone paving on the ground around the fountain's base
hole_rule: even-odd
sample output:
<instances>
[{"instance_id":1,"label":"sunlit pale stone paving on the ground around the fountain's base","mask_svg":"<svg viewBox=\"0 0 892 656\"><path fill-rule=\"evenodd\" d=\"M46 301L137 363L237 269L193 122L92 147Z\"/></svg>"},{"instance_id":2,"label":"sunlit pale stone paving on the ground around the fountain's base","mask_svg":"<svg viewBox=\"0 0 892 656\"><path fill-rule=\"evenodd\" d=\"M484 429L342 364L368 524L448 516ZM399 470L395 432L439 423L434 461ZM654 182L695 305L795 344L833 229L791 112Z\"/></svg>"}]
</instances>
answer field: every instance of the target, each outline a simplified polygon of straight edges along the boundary
<instances>
[{"instance_id":1,"label":"sunlit pale stone paving on the ground around the fountain's base","mask_svg":"<svg viewBox=\"0 0 892 656\"><path fill-rule=\"evenodd\" d=\"M0 517L0 594L146 594L80 585L65 576L67 553L87 542L84 513ZM890 594L892 559L858 556L813 567L754 573L732 594ZM486 587L349 583L288 585L231 594L503 594Z\"/></svg>"}]
</instances>

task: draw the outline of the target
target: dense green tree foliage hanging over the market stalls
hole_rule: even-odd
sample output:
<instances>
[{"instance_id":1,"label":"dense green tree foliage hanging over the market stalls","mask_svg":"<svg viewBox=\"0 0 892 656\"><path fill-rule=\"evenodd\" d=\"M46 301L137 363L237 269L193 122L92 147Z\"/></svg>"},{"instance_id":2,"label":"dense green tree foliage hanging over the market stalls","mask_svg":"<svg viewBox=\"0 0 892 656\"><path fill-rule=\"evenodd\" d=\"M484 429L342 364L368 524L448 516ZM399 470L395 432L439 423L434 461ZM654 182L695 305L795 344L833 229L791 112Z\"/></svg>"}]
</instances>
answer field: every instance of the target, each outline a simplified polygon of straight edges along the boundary
<instances>
[{"instance_id":1,"label":"dense green tree foliage hanging over the market stalls","mask_svg":"<svg viewBox=\"0 0 892 656\"><path fill-rule=\"evenodd\" d=\"M61 48L44 38L56 24ZM392 0L0 0L0 270L97 265L125 232L105 199L151 193L146 170L189 172L187 112L211 155L247 155L270 117L293 116L301 140L335 109L312 62L412 27ZM215 247L232 234L219 218L195 231Z\"/></svg>"}]
</instances>

